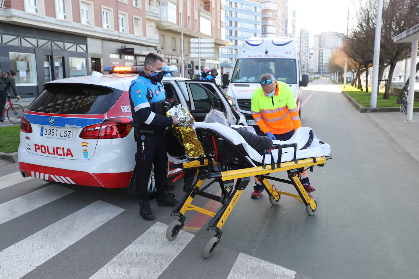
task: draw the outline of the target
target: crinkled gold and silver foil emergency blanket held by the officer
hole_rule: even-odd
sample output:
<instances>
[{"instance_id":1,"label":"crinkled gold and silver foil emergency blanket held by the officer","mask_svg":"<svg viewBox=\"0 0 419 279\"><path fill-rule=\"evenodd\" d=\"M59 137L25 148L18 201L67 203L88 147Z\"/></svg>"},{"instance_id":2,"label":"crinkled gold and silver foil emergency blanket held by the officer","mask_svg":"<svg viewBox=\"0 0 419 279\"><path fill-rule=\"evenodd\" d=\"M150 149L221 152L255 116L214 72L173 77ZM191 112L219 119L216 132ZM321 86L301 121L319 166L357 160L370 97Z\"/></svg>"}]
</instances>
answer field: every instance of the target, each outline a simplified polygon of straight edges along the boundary
<instances>
[{"instance_id":1,"label":"crinkled gold and silver foil emergency blanket held by the officer","mask_svg":"<svg viewBox=\"0 0 419 279\"><path fill-rule=\"evenodd\" d=\"M166 113L168 117L173 117L174 115L177 115L178 120L182 121L181 124L173 125L172 129L176 138L184 147L185 153L189 157L204 156L202 143L198 140L192 128L195 122L194 117L181 104L175 105Z\"/></svg>"}]
</instances>

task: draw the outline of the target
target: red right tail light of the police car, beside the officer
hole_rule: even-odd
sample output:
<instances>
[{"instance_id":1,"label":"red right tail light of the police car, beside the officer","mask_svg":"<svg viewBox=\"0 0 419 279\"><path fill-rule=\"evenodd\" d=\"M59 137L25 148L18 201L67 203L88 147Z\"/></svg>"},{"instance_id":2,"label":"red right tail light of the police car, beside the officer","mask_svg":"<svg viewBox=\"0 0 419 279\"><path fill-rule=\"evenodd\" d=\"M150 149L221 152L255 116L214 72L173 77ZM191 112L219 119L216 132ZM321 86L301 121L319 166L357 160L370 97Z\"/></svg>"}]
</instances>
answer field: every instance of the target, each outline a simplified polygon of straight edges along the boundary
<instances>
[{"instance_id":1,"label":"red right tail light of the police car, beside the officer","mask_svg":"<svg viewBox=\"0 0 419 279\"><path fill-rule=\"evenodd\" d=\"M131 121L131 119L124 117L105 119L102 123L84 127L80 133L80 138L123 138L127 136L132 129L132 126L129 125L129 121Z\"/></svg>"}]
</instances>

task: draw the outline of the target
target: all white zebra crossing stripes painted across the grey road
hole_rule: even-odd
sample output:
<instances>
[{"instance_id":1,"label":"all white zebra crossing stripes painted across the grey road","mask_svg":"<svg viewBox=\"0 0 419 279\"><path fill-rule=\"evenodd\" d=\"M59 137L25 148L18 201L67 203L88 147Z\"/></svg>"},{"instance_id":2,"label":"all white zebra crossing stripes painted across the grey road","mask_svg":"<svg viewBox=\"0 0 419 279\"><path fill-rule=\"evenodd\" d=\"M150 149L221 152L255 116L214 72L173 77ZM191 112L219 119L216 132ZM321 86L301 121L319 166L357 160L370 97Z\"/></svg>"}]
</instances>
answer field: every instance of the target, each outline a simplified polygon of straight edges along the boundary
<instances>
[{"instance_id":1,"label":"all white zebra crossing stripes painted across the grey road","mask_svg":"<svg viewBox=\"0 0 419 279\"><path fill-rule=\"evenodd\" d=\"M15 174L13 174L15 175ZM12 176L9 176L12 177ZM0 177L0 181L3 177ZM9 180L13 181L13 180ZM20 181L20 180L18 180ZM33 182L39 180L34 179ZM8 182L3 190L7 187L19 183ZM5 185L5 184L2 184ZM49 203L59 203L59 199L74 193L72 189L57 184L50 184L41 189L29 192L26 195L9 200L0 204L0 230L6 228L8 221L21 218L24 214ZM1 195L1 192L0 192ZM72 194L74 195L74 194ZM87 203L86 203L87 204ZM53 259L59 253L65 251L73 245L77 245L78 241L90 235L91 233L101 230L101 226L115 220L118 223L119 216L125 211L124 208L113 205L109 202L96 200L87 206L80 205L75 212L59 221L54 220L51 225L33 233L7 248L0 251L0 278L15 279L25 276L25 278L34 278L30 276L30 272L39 268L45 262ZM84 207L83 207L84 206ZM39 216L43 218L43 216ZM191 244L194 234L181 230L173 241L166 239L167 225L161 222L144 222L139 221L141 225L150 226L144 233L132 238L133 241L124 247L120 247L119 253L116 252L113 259L109 262L101 264L97 269L92 271L85 278L158 278L163 274L168 266L182 253L184 248ZM124 224L121 224L122 226ZM9 229L10 233L14 233L14 228ZM123 237L123 236L121 236ZM1 243L0 235L0 243ZM11 242L13 243L13 242ZM194 250L203 247L193 247ZM220 250L222 250L220 248ZM199 251L201 253L201 251ZM83 253L80 251L80 253ZM94 254L95 251L88 251ZM216 257L217 251L212 255ZM234 259L231 262L234 265L230 271L226 271L228 277L224 278L295 278L295 272L285 269L261 259L238 253L234 251ZM77 255L75 255L77 257ZM185 255L182 256L182 259ZM109 258L108 258L109 259ZM207 266L210 261L199 259L201 264ZM188 259L186 257L185 264L192 264L190 261L197 259ZM67 263L72 265L71 260ZM67 265L66 264L66 265ZM211 269L217 269L218 266L211 266ZM229 268L230 269L230 268ZM168 272L168 271L167 271ZM229 273L228 273L229 272ZM207 274L210 275L210 274ZM167 276L167 274L166 274ZM188 278L187 276L185 278ZM194 277L198 278L198 277Z\"/></svg>"}]
</instances>

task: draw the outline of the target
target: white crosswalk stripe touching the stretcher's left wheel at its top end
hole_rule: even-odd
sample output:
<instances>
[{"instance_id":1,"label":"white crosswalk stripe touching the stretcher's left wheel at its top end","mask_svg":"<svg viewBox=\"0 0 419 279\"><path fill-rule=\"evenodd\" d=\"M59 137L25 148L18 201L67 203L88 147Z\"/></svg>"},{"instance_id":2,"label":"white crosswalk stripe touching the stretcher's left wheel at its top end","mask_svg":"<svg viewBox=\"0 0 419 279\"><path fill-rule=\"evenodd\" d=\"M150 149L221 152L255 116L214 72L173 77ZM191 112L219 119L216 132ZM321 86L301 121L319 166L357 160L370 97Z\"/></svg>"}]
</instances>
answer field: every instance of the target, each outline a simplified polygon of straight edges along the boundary
<instances>
[{"instance_id":1,"label":"white crosswalk stripe touching the stretcher's left wheel at its top end","mask_svg":"<svg viewBox=\"0 0 419 279\"><path fill-rule=\"evenodd\" d=\"M168 241L166 229L167 225L155 223L90 279L157 278L194 237L181 230Z\"/></svg>"}]
</instances>

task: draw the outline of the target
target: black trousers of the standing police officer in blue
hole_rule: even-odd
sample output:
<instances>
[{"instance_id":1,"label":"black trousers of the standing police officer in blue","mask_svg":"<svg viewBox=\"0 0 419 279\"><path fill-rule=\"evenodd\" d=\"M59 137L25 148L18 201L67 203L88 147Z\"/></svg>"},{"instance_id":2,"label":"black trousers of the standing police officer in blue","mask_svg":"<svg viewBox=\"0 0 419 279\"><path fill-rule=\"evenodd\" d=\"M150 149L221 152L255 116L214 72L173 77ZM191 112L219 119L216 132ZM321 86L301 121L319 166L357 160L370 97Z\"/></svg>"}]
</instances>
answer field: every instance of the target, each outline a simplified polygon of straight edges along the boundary
<instances>
[{"instance_id":1,"label":"black trousers of the standing police officer in blue","mask_svg":"<svg viewBox=\"0 0 419 279\"><path fill-rule=\"evenodd\" d=\"M151 166L154 164L154 181L157 192L163 192L169 189L166 184L166 138L162 133L145 135L145 140L137 140L137 153L135 154L136 166L136 185L135 194L138 199L148 197L147 184L150 178ZM144 142L144 150L142 143Z\"/></svg>"}]
</instances>

